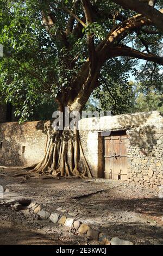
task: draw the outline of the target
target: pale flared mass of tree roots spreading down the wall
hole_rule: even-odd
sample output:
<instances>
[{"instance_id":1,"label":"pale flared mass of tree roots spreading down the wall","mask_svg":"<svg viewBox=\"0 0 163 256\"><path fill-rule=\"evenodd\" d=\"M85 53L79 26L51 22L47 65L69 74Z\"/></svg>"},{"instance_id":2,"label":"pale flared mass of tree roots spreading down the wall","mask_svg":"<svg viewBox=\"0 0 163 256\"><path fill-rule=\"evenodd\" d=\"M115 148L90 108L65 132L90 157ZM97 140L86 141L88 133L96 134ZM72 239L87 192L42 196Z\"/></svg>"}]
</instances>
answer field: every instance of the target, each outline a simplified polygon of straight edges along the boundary
<instances>
[{"instance_id":1,"label":"pale flared mass of tree roots spreading down the wall","mask_svg":"<svg viewBox=\"0 0 163 256\"><path fill-rule=\"evenodd\" d=\"M65 178L72 176L76 178L92 177L84 156L79 132L77 130L74 132L64 130L62 132L55 131L51 136L48 135L45 155L30 172Z\"/></svg>"}]
</instances>

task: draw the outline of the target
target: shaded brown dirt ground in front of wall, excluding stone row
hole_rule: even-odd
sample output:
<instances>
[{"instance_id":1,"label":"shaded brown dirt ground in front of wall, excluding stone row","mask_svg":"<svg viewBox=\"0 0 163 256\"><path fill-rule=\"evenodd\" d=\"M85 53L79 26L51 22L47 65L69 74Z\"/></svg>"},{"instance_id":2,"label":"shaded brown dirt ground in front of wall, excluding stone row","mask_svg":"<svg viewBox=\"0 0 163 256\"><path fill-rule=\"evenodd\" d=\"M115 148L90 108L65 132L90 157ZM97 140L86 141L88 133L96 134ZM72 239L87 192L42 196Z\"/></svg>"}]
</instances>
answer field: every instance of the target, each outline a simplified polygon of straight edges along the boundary
<instances>
[{"instance_id":1,"label":"shaded brown dirt ground in front of wall, excluding stone row","mask_svg":"<svg viewBox=\"0 0 163 256\"><path fill-rule=\"evenodd\" d=\"M163 199L158 191L128 182L105 179L54 179L28 175L19 167L0 167L0 185L9 189L0 195L0 245L87 245L86 235L39 220L28 210L13 210L5 200L25 197L49 212L64 215L110 237L135 245L163 245Z\"/></svg>"}]
</instances>

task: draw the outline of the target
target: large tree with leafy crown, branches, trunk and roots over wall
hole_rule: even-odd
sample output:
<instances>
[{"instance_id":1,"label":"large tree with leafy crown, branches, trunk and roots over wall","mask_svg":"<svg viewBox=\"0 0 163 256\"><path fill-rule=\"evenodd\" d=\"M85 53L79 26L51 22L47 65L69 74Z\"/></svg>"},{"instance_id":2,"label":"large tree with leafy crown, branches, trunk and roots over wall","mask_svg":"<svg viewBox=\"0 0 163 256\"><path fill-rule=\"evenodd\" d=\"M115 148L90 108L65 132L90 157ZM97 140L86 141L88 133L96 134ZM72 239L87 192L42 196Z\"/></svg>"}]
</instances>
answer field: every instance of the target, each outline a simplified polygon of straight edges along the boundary
<instances>
[{"instance_id":1,"label":"large tree with leafy crown, branches, trunk and roots over wall","mask_svg":"<svg viewBox=\"0 0 163 256\"><path fill-rule=\"evenodd\" d=\"M6 100L14 98L22 106L17 115L29 115L28 106L46 95L61 112L65 107L82 112L103 81L103 69L105 74L111 72L107 65L125 63L126 58L130 65L135 58L163 64L158 54L162 0L0 3L0 42L6 56L0 64L1 90ZM45 156L34 170L59 176L91 175L78 131L67 127L53 131Z\"/></svg>"}]
</instances>

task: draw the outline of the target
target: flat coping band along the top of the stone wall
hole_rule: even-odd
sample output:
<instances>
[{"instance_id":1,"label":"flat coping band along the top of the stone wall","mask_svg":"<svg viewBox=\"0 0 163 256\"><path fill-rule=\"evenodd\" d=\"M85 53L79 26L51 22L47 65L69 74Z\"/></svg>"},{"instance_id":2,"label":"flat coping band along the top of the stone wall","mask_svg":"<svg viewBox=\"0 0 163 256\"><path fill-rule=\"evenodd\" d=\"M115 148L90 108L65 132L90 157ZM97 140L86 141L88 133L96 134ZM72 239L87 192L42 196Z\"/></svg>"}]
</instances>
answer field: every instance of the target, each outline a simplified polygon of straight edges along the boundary
<instances>
[{"instance_id":1,"label":"flat coping band along the top of the stone wall","mask_svg":"<svg viewBox=\"0 0 163 256\"><path fill-rule=\"evenodd\" d=\"M29 121L23 124L18 122L1 123L0 127L26 126L51 126L50 120L45 121ZM153 126L163 129L163 115L159 111L137 112L131 114L112 115L105 117L84 118L79 121L79 130L83 131L109 131L109 130L125 130L136 127Z\"/></svg>"}]
</instances>

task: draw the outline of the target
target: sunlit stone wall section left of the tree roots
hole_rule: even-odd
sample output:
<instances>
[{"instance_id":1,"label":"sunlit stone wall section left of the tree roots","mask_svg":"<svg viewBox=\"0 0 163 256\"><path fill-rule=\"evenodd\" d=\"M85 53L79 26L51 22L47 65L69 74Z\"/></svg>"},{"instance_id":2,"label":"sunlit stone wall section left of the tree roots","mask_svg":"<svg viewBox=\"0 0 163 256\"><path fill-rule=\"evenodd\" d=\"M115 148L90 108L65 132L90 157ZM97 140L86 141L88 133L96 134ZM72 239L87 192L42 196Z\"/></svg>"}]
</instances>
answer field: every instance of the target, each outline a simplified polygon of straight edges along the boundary
<instances>
[{"instance_id":1,"label":"sunlit stone wall section left of the tree roots","mask_svg":"<svg viewBox=\"0 0 163 256\"><path fill-rule=\"evenodd\" d=\"M44 154L50 122L0 124L0 165L27 166Z\"/></svg>"}]
</instances>

